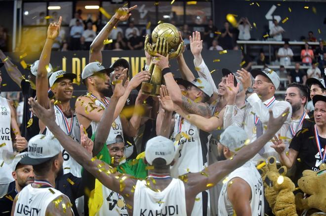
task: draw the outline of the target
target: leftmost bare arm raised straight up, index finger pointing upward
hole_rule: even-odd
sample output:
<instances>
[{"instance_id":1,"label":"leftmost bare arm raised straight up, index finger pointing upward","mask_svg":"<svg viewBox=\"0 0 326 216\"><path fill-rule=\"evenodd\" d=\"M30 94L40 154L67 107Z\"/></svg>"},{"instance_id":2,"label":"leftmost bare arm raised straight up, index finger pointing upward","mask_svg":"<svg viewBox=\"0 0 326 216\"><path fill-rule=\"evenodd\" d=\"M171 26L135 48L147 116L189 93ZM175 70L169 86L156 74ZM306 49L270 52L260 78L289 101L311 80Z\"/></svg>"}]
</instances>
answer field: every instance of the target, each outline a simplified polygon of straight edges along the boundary
<instances>
[{"instance_id":1,"label":"leftmost bare arm raised straight up, index finger pointing upward","mask_svg":"<svg viewBox=\"0 0 326 216\"><path fill-rule=\"evenodd\" d=\"M36 76L36 96L41 106L48 108L48 80L47 80L47 68L51 58L51 48L55 38L59 35L62 17L60 16L58 23L50 23L47 29L47 35L45 44L40 57L38 73Z\"/></svg>"}]
</instances>

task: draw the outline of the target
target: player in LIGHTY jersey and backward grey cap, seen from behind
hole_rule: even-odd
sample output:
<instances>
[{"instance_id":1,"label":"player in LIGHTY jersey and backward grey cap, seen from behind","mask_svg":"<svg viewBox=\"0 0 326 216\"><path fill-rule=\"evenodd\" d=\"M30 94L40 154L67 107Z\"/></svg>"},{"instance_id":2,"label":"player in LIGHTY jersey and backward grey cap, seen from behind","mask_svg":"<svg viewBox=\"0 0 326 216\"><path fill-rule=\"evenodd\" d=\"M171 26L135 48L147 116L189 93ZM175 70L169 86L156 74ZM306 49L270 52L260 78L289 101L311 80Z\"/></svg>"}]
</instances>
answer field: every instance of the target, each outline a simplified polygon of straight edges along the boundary
<instances>
[{"instance_id":1,"label":"player in LIGHTY jersey and backward grey cap, seen from behind","mask_svg":"<svg viewBox=\"0 0 326 216\"><path fill-rule=\"evenodd\" d=\"M52 120L55 123L54 113ZM73 145L80 146L76 142ZM50 135L34 136L28 142L28 156L23 157L20 163L33 165L35 181L16 195L11 216L74 215L69 198L55 189L55 178L60 175L63 164L58 140Z\"/></svg>"}]
</instances>

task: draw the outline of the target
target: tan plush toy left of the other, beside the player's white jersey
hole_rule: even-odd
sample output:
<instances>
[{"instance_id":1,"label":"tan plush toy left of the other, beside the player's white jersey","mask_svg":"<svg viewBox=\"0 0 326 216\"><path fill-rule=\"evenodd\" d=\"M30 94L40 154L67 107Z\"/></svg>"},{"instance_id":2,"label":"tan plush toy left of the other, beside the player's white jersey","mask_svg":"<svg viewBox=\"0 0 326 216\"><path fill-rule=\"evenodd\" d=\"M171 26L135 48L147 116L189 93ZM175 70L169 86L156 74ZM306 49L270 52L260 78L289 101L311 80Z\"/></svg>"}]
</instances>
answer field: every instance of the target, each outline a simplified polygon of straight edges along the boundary
<instances>
[{"instance_id":1,"label":"tan plush toy left of the other, beside the player's white jersey","mask_svg":"<svg viewBox=\"0 0 326 216\"><path fill-rule=\"evenodd\" d=\"M295 185L285 176L285 166L278 168L276 158L271 156L259 161L257 169L264 183L265 198L275 216L297 216L293 191Z\"/></svg>"}]
</instances>

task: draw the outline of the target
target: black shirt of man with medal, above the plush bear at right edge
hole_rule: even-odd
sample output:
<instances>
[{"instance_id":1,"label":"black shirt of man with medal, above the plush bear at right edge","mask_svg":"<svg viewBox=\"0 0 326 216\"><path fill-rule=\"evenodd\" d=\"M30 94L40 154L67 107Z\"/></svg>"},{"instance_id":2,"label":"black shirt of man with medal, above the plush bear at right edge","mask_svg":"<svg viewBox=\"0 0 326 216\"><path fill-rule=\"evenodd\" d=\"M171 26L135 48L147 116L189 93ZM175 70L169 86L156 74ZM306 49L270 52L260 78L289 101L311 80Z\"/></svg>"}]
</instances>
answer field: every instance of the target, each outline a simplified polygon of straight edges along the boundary
<instances>
[{"instance_id":1,"label":"black shirt of man with medal, above the plush bear at right edge","mask_svg":"<svg viewBox=\"0 0 326 216\"><path fill-rule=\"evenodd\" d=\"M297 169L294 175L295 184L302 176L304 170L318 171L319 166L323 163L316 144L314 125L303 128L300 131L293 137L289 146L290 149L299 152L297 157L299 158L297 159ZM325 149L326 138L319 136L319 140L322 148Z\"/></svg>"}]
</instances>

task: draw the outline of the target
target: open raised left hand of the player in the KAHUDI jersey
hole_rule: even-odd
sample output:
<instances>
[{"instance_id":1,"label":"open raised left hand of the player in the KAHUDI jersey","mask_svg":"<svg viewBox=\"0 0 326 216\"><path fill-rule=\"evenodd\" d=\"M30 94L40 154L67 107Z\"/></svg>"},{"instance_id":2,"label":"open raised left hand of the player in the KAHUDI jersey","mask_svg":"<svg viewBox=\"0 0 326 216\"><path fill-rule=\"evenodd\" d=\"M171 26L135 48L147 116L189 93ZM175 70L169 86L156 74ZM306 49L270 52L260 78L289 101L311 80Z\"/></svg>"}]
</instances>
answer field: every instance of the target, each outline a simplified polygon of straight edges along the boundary
<instances>
[{"instance_id":1,"label":"open raised left hand of the player in the KAHUDI jersey","mask_svg":"<svg viewBox=\"0 0 326 216\"><path fill-rule=\"evenodd\" d=\"M55 114L54 114L54 100L52 99L49 102L49 109L42 107L39 102L37 102L33 97L28 99L28 104L32 107L32 111L45 125L48 123L55 123Z\"/></svg>"}]
</instances>

